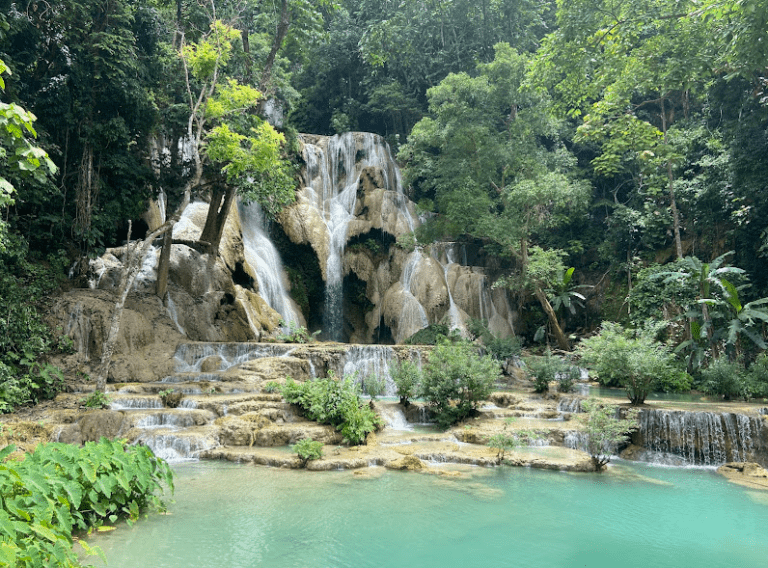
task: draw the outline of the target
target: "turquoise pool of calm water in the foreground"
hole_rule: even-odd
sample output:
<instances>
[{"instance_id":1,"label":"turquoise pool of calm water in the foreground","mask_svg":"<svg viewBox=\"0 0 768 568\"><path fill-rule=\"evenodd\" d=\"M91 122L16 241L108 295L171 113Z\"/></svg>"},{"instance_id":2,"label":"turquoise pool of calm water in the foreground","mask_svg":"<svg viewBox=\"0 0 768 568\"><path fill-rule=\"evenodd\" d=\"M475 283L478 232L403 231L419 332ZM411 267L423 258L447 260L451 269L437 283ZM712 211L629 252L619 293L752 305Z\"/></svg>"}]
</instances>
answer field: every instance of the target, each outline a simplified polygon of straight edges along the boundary
<instances>
[{"instance_id":1,"label":"turquoise pool of calm water in the foreground","mask_svg":"<svg viewBox=\"0 0 768 568\"><path fill-rule=\"evenodd\" d=\"M170 515L92 539L115 568L764 567L768 494L711 470L620 475L182 464Z\"/></svg>"}]
</instances>

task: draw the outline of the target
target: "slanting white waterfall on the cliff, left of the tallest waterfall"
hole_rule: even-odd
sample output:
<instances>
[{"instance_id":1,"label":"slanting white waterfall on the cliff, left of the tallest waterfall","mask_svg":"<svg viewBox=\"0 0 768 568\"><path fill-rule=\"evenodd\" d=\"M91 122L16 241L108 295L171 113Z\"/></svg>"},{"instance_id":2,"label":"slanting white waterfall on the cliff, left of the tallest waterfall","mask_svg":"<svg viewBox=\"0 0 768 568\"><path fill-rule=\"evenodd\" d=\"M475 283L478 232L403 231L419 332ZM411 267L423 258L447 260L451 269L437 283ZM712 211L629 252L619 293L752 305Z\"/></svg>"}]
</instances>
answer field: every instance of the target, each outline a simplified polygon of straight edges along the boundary
<instances>
[{"instance_id":1,"label":"slanting white waterfall on the cliff, left of the tallest waterfall","mask_svg":"<svg viewBox=\"0 0 768 568\"><path fill-rule=\"evenodd\" d=\"M282 316L286 325L300 325L299 315L283 281L283 263L266 234L261 207L258 203L240 203L238 210L243 231L243 252L245 259L256 270L259 295Z\"/></svg>"}]
</instances>

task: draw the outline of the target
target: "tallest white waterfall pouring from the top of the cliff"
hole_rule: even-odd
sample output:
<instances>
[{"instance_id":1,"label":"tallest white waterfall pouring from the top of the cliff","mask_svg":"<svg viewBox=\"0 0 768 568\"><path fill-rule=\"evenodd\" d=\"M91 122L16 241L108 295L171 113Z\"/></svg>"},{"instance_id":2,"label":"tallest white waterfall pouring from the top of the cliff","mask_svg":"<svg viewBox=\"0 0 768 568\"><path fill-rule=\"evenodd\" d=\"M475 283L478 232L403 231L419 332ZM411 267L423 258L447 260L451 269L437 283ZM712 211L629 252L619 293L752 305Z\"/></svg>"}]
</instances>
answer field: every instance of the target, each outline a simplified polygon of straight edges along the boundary
<instances>
[{"instance_id":1,"label":"tallest white waterfall pouring from the top of the cliff","mask_svg":"<svg viewBox=\"0 0 768 568\"><path fill-rule=\"evenodd\" d=\"M344 322L342 257L347 228L354 217L357 186L363 168L381 168L386 189L398 193L401 213L408 220L410 230L414 228L414 221L406 206L399 169L389 146L380 136L347 132L331 137L325 151L315 144L305 143L304 160L310 180L309 197L322 214L329 240L323 327L328 339L341 341Z\"/></svg>"}]
</instances>

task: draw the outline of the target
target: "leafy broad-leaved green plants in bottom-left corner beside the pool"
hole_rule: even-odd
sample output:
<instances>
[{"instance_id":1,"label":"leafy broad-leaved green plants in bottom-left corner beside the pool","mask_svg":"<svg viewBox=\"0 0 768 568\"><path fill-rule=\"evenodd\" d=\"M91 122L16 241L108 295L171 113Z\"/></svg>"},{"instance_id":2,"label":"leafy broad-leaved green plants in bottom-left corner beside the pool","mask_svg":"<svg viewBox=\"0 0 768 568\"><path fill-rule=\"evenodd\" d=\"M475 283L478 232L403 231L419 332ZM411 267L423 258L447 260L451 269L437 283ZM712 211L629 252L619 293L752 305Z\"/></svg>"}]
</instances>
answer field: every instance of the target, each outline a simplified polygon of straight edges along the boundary
<instances>
[{"instance_id":1,"label":"leafy broad-leaved green plants in bottom-left corner beside the pool","mask_svg":"<svg viewBox=\"0 0 768 568\"><path fill-rule=\"evenodd\" d=\"M163 485L173 471L146 446L102 438L78 448L41 444L24 461L3 461L0 451L0 564L15 568L80 566L73 532L162 508ZM80 541L86 553L103 553ZM105 559L106 562L106 559Z\"/></svg>"}]
</instances>

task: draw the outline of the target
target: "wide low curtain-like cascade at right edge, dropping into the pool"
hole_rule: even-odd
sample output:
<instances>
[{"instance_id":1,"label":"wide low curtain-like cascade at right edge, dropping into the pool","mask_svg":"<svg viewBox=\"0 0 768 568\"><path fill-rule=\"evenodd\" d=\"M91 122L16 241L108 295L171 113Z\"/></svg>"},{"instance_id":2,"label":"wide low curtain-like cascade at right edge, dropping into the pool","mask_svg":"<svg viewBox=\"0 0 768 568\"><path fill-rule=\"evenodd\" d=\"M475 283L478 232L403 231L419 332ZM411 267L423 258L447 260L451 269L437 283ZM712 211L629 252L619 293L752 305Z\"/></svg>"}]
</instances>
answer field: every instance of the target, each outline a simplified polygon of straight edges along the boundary
<instances>
[{"instance_id":1,"label":"wide low curtain-like cascade at right edge, dropping into the pool","mask_svg":"<svg viewBox=\"0 0 768 568\"><path fill-rule=\"evenodd\" d=\"M650 460L669 456L687 465L719 466L753 461L762 429L759 418L744 414L643 410L633 439L653 452Z\"/></svg>"}]
</instances>

